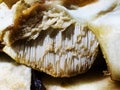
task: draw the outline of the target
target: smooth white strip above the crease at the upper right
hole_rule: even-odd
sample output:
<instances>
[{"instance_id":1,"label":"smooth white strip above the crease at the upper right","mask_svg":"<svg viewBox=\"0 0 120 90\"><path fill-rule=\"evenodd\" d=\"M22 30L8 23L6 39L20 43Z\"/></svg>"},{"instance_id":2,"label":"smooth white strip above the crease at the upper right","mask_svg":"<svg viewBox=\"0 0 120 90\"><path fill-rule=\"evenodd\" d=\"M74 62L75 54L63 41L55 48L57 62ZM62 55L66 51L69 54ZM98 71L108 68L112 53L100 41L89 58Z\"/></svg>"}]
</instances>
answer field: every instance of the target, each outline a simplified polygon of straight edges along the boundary
<instances>
[{"instance_id":1,"label":"smooth white strip above the crease at the upper right","mask_svg":"<svg viewBox=\"0 0 120 90\"><path fill-rule=\"evenodd\" d=\"M98 0L94 3L88 4L84 7L79 7L75 10L66 9L66 11L79 23L87 25L88 21L96 19L102 12L109 11L116 7L119 0ZM64 7L61 7L65 9Z\"/></svg>"}]
</instances>

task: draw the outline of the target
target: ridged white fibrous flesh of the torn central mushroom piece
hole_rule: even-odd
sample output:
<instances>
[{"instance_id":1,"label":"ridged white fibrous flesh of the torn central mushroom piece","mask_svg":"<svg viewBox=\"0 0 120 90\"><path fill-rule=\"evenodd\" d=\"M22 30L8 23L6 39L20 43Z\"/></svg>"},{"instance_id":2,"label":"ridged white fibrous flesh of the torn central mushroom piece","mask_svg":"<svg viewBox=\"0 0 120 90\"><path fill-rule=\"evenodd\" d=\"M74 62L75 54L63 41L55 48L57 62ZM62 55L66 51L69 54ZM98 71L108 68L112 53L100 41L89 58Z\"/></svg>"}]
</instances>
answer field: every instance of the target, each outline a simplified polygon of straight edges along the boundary
<instances>
[{"instance_id":1,"label":"ridged white fibrous flesh of the torn central mushroom piece","mask_svg":"<svg viewBox=\"0 0 120 90\"><path fill-rule=\"evenodd\" d=\"M18 41L4 52L17 62L55 77L69 77L90 69L98 50L95 36L75 24L65 31L48 29L31 41Z\"/></svg>"}]
</instances>

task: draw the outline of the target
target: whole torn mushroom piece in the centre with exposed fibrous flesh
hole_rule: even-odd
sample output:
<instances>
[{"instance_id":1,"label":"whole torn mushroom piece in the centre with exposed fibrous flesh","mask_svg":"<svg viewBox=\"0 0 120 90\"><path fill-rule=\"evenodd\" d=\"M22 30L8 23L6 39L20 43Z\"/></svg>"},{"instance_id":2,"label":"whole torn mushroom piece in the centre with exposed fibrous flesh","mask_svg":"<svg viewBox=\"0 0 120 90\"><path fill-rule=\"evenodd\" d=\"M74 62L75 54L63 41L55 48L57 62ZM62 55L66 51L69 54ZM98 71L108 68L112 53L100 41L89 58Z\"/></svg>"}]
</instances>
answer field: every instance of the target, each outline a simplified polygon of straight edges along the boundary
<instances>
[{"instance_id":1,"label":"whole torn mushroom piece in the centre with exposed fibrous flesh","mask_svg":"<svg viewBox=\"0 0 120 90\"><path fill-rule=\"evenodd\" d=\"M38 3L36 3L38 5ZM3 41L18 40L3 51L19 63L54 77L70 77L90 69L98 51L95 35L59 5L28 10L16 30L6 29ZM42 8L42 11L41 11ZM9 32L10 31L10 32ZM12 33L11 33L12 32ZM14 33L14 34L13 34ZM9 38L6 35L10 35Z\"/></svg>"}]
</instances>

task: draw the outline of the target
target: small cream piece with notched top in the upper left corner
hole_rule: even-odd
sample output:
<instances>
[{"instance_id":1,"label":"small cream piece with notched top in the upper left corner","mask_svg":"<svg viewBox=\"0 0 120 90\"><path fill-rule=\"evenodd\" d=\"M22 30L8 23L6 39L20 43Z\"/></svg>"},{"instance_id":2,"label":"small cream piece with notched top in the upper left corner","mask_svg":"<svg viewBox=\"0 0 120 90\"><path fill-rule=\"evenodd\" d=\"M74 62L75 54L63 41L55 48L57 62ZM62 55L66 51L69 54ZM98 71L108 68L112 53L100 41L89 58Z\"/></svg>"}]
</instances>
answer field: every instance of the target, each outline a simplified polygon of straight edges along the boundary
<instances>
[{"instance_id":1,"label":"small cream piece with notched top in the upper left corner","mask_svg":"<svg viewBox=\"0 0 120 90\"><path fill-rule=\"evenodd\" d=\"M8 26L14 24L16 13L21 2L16 3L10 9L4 2L0 3L0 33L4 31Z\"/></svg>"}]
</instances>

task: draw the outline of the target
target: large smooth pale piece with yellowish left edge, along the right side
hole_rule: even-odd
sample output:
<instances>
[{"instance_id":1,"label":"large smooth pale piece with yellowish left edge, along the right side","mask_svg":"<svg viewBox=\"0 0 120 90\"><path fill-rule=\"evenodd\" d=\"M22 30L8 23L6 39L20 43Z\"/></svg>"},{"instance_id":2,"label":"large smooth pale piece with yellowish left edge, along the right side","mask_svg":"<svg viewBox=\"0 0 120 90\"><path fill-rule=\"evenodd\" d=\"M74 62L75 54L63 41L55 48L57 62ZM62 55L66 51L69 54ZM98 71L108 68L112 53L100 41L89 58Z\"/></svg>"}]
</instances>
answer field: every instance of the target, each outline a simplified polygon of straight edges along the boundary
<instances>
[{"instance_id":1,"label":"large smooth pale piece with yellowish left edge, along the right side","mask_svg":"<svg viewBox=\"0 0 120 90\"><path fill-rule=\"evenodd\" d=\"M120 5L89 22L97 36L112 79L120 80Z\"/></svg>"}]
</instances>

